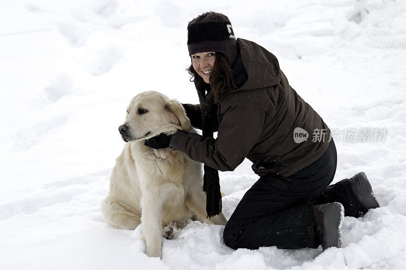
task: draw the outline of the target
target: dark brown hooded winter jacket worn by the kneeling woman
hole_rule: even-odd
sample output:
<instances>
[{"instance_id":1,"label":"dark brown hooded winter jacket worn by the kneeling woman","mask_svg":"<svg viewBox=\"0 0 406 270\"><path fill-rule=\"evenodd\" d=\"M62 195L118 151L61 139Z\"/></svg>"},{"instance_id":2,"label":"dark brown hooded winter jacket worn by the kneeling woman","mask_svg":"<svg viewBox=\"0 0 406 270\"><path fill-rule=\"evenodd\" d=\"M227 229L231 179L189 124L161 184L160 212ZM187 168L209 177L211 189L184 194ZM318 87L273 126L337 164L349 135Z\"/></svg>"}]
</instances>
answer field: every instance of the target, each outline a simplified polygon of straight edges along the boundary
<instances>
[{"instance_id":1,"label":"dark brown hooded winter jacket worn by the kneeling woman","mask_svg":"<svg viewBox=\"0 0 406 270\"><path fill-rule=\"evenodd\" d=\"M323 155L330 129L289 85L272 53L248 40L238 39L238 46L248 79L223 91L217 138L178 131L171 146L220 171L248 158L259 176L290 176Z\"/></svg>"}]
</instances>

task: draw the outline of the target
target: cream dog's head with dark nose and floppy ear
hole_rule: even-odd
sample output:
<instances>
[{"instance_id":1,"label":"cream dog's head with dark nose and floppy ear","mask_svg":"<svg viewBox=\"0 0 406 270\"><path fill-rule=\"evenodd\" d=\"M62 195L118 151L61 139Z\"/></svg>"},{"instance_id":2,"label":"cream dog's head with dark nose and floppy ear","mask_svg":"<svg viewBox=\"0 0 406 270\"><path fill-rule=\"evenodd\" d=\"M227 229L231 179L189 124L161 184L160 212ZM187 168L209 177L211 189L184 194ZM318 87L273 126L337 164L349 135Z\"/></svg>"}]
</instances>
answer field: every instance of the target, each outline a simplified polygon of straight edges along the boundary
<instances>
[{"instance_id":1,"label":"cream dog's head with dark nose and floppy ear","mask_svg":"<svg viewBox=\"0 0 406 270\"><path fill-rule=\"evenodd\" d=\"M125 142L146 140L160 133L173 134L192 126L182 104L156 91L142 92L131 99L127 118L119 126Z\"/></svg>"}]
</instances>

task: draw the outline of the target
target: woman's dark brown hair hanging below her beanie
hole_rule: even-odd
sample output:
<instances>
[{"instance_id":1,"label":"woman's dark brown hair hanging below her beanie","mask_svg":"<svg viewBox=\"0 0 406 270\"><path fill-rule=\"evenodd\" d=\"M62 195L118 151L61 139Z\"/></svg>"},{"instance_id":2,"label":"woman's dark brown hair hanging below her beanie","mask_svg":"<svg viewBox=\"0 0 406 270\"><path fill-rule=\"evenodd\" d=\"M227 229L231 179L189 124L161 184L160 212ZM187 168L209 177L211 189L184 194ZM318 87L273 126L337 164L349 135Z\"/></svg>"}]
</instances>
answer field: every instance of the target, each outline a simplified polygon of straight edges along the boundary
<instances>
[{"instance_id":1,"label":"woman's dark brown hair hanging below her beanie","mask_svg":"<svg viewBox=\"0 0 406 270\"><path fill-rule=\"evenodd\" d=\"M195 82L196 87L201 89L202 85L206 82L193 69L193 64L190 64L186 70L192 76L190 81ZM233 82L231 67L227 62L227 58L220 52L216 52L216 60L214 61L213 71L210 75L209 81L213 90L215 103L220 99L224 88L229 88L231 85L237 88Z\"/></svg>"}]
</instances>

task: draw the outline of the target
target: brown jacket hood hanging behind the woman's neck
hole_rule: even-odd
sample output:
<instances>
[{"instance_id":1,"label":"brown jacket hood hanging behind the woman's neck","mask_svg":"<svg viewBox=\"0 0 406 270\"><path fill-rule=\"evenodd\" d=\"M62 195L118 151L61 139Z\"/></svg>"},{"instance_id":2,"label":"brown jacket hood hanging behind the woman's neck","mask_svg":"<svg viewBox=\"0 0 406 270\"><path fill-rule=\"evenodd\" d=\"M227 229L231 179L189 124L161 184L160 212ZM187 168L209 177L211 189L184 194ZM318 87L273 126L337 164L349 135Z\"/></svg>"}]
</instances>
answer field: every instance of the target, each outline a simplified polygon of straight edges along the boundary
<instances>
[{"instance_id":1,"label":"brown jacket hood hanging behind the woman's neck","mask_svg":"<svg viewBox=\"0 0 406 270\"><path fill-rule=\"evenodd\" d=\"M237 39L237 46L248 74L248 79L239 89L233 89L231 92L279 84L281 81L281 70L275 55L255 42L240 38Z\"/></svg>"}]
</instances>

